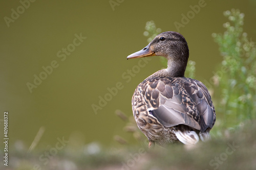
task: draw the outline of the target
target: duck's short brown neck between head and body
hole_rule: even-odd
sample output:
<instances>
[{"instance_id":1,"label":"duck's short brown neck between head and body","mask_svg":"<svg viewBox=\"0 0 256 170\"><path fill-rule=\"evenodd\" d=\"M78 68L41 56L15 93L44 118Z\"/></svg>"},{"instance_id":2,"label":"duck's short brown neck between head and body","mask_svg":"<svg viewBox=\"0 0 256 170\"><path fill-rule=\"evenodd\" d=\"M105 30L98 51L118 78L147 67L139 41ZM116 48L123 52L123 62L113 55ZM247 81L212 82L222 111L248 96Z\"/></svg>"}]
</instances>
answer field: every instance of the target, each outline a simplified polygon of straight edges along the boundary
<instances>
[{"instance_id":1,"label":"duck's short brown neck between head and body","mask_svg":"<svg viewBox=\"0 0 256 170\"><path fill-rule=\"evenodd\" d=\"M166 73L168 77L184 77L187 61L168 60Z\"/></svg>"}]
</instances>

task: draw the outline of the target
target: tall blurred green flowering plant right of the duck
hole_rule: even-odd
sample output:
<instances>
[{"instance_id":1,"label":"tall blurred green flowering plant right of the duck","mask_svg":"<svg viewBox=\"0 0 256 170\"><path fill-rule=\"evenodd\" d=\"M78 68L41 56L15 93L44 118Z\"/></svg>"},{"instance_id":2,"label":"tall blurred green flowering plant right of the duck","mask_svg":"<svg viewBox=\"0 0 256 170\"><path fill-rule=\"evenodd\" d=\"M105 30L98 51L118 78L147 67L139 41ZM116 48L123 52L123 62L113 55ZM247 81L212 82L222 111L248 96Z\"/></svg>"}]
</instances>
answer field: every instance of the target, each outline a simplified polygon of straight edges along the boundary
<instances>
[{"instance_id":1,"label":"tall blurred green flowering plant right of the duck","mask_svg":"<svg viewBox=\"0 0 256 170\"><path fill-rule=\"evenodd\" d=\"M256 47L243 32L243 13L232 9L224 16L230 21L223 25L226 31L212 34L223 56L213 79L214 99L220 129L233 129L244 120L255 118Z\"/></svg>"}]
</instances>

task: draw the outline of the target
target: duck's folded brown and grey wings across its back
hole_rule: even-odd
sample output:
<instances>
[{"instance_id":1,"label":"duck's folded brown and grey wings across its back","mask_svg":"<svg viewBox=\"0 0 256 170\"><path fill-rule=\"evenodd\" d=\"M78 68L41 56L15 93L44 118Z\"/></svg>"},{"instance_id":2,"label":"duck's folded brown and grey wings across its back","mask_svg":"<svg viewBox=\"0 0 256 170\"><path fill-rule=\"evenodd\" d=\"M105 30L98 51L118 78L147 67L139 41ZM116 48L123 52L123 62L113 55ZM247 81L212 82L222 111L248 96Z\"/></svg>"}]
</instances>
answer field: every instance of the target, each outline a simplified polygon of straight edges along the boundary
<instances>
[{"instance_id":1,"label":"duck's folded brown and grey wings across its back","mask_svg":"<svg viewBox=\"0 0 256 170\"><path fill-rule=\"evenodd\" d=\"M207 88L189 78L151 78L140 85L147 110L166 126L186 125L204 132L216 115Z\"/></svg>"}]
</instances>

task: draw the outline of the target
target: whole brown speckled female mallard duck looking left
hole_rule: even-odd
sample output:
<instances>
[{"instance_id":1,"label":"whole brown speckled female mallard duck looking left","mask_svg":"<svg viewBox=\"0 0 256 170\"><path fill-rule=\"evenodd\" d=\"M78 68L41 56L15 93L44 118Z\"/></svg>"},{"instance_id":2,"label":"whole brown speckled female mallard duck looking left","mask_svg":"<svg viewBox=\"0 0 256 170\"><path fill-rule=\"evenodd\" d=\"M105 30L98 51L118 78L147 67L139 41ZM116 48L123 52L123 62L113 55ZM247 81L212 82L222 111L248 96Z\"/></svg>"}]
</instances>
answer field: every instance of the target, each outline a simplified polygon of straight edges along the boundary
<instances>
[{"instance_id":1,"label":"whole brown speckled female mallard duck looking left","mask_svg":"<svg viewBox=\"0 0 256 170\"><path fill-rule=\"evenodd\" d=\"M161 33L127 59L149 56L165 57L168 67L146 78L133 94L133 115L148 146L177 141L195 144L199 136L203 141L210 139L215 108L205 85L184 77L189 56L185 38L176 32Z\"/></svg>"}]
</instances>

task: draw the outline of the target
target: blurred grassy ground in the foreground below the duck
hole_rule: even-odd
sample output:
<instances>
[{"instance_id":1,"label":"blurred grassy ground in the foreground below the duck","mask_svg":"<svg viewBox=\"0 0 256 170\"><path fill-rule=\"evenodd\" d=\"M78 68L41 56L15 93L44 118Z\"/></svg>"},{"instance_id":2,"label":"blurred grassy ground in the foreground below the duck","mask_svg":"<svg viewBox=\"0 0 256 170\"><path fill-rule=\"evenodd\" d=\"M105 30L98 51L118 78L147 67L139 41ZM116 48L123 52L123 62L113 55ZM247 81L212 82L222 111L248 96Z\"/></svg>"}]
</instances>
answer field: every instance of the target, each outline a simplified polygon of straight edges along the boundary
<instances>
[{"instance_id":1,"label":"blurred grassy ground in the foreground below the duck","mask_svg":"<svg viewBox=\"0 0 256 170\"><path fill-rule=\"evenodd\" d=\"M116 142L114 147L102 148L90 143L74 149L77 141L59 138L55 147L27 154L28 148L16 143L5 169L255 169L255 131L256 120L244 122L235 131L225 131L222 138L212 136L211 141L193 147L175 143L147 149L145 140L135 146Z\"/></svg>"}]
</instances>

